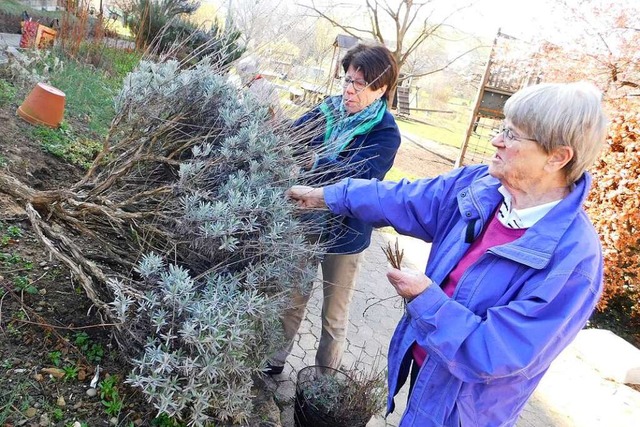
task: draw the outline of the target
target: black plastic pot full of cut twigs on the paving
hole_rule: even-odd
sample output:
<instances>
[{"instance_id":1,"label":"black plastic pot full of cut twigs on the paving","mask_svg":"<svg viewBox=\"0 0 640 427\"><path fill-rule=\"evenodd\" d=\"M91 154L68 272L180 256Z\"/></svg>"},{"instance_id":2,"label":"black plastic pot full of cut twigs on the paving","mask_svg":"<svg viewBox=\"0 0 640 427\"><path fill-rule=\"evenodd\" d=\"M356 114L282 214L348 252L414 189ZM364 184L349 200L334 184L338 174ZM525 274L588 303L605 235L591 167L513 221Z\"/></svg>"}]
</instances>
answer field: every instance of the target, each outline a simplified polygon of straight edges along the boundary
<instances>
[{"instance_id":1,"label":"black plastic pot full of cut twigs on the paving","mask_svg":"<svg viewBox=\"0 0 640 427\"><path fill-rule=\"evenodd\" d=\"M298 371L294 420L296 427L365 427L371 415L341 406L344 390L353 380L326 366L307 366Z\"/></svg>"}]
</instances>

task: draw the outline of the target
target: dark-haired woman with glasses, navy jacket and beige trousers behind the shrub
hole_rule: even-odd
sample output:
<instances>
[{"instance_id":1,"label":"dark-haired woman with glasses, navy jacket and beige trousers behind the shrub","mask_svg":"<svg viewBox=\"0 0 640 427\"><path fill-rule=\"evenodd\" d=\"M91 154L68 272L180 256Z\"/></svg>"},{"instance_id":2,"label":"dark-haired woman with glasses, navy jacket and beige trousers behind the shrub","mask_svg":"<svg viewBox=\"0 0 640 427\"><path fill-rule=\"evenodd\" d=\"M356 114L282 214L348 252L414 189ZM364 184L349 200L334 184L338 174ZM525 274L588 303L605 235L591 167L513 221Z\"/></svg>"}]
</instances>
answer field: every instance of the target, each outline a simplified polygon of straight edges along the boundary
<instances>
[{"instance_id":1,"label":"dark-haired woman with glasses, navy jacket and beige trousers behind the shrub","mask_svg":"<svg viewBox=\"0 0 640 427\"><path fill-rule=\"evenodd\" d=\"M357 45L342 59L342 95L328 97L300 119L297 139L306 140L304 168L314 185L341 178L383 179L391 169L400 131L387 110L396 87L398 66L384 46ZM349 323L349 305L372 227L355 218L324 218L319 231L327 254L321 262L323 277L322 331L316 364L340 366ZM304 317L309 294L297 293L283 316L286 348L278 352L265 371L282 372L293 339Z\"/></svg>"}]
</instances>

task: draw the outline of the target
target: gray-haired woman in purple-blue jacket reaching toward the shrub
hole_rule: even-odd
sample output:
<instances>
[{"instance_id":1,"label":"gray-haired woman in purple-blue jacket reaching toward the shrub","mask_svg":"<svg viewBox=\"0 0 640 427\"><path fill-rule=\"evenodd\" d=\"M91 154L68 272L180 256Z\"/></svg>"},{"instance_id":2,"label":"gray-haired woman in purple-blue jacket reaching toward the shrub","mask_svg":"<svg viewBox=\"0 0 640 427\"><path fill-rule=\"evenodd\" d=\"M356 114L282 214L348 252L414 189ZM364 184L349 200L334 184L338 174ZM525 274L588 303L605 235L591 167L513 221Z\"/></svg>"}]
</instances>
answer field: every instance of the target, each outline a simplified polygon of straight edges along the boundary
<instances>
[{"instance_id":1,"label":"gray-haired woman in purple-blue jacket reaching toward the shrub","mask_svg":"<svg viewBox=\"0 0 640 427\"><path fill-rule=\"evenodd\" d=\"M325 207L432 243L425 274L391 269L407 301L389 348L388 411L410 378L400 426L512 426L602 291L598 236L582 205L604 142L586 83L514 94L488 165L399 183L293 187Z\"/></svg>"}]
</instances>

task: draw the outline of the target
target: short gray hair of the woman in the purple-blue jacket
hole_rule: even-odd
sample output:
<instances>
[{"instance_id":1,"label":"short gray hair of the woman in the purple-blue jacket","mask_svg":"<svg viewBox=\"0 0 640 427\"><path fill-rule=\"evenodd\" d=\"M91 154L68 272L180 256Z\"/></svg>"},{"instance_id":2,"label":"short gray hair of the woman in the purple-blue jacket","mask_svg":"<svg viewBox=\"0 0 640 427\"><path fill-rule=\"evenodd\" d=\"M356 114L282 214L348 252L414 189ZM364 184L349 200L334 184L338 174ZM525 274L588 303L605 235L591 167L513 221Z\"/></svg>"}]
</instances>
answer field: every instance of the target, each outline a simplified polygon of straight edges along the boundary
<instances>
[{"instance_id":1,"label":"short gray hair of the woman in the purple-blue jacket","mask_svg":"<svg viewBox=\"0 0 640 427\"><path fill-rule=\"evenodd\" d=\"M526 87L507 100L504 114L547 153L560 146L573 148L564 167L568 184L595 162L606 137L602 94L587 82Z\"/></svg>"}]
</instances>

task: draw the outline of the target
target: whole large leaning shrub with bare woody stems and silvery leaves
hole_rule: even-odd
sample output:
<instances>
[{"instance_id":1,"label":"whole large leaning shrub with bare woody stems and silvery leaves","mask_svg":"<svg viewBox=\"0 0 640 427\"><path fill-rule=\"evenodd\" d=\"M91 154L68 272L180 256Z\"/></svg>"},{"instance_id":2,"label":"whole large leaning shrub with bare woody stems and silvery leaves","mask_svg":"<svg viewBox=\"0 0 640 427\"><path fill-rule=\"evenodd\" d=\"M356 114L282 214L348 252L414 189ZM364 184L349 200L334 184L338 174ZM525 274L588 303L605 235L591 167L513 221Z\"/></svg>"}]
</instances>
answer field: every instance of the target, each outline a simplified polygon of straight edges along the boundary
<instances>
[{"instance_id":1,"label":"whole large leaning shrub with bare woody stems and silvery leaves","mask_svg":"<svg viewBox=\"0 0 640 427\"><path fill-rule=\"evenodd\" d=\"M285 196L299 139L210 60L141 62L115 111L79 182L36 191L0 172L3 191L113 325L159 415L246 422L279 313L321 253Z\"/></svg>"}]
</instances>

